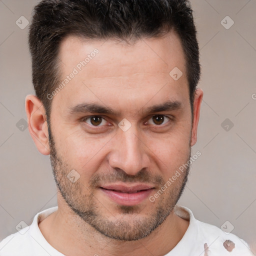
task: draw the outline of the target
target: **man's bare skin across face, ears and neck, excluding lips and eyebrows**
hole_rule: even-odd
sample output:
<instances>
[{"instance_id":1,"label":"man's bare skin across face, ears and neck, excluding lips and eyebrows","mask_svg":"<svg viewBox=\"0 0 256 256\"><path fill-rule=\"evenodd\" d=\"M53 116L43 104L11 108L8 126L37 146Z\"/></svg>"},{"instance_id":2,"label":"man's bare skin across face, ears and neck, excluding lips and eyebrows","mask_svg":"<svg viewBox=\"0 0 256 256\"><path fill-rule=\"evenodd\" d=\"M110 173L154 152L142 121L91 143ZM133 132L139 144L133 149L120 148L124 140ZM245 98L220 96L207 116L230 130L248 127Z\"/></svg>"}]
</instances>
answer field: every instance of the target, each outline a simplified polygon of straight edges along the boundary
<instances>
[{"instance_id":1,"label":"man's bare skin across face, ears and neck, excluding lips and eyebrows","mask_svg":"<svg viewBox=\"0 0 256 256\"><path fill-rule=\"evenodd\" d=\"M100 186L150 184L148 197L158 191L190 157L203 92L196 89L192 122L184 53L174 31L131 44L68 36L60 45L62 78L94 48L99 50L96 56L52 98L53 140L48 139L40 100L34 95L25 99L29 132L39 152L50 154L57 182L58 210L39 228L65 255L164 255L189 224L173 210L188 169L154 202L146 198L133 206L119 205ZM176 81L169 75L175 66L183 72ZM180 108L145 112L166 100L179 101ZM111 107L118 114L68 112L84 102ZM99 126L84 119L93 115L104 118ZM170 119L156 124L155 115ZM127 131L118 127L123 118L131 124ZM72 169L80 175L74 183L66 177ZM159 218L162 223L157 223Z\"/></svg>"}]
</instances>

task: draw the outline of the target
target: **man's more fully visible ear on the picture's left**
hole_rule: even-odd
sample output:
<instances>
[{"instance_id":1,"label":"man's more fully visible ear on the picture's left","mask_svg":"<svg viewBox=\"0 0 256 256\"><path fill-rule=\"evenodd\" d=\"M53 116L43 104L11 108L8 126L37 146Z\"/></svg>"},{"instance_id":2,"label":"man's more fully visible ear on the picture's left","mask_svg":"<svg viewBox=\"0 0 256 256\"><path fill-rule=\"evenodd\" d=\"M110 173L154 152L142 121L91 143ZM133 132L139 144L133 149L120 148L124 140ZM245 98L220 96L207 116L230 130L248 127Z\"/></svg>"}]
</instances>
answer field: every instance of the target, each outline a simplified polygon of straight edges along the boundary
<instances>
[{"instance_id":1,"label":"man's more fully visible ear on the picture's left","mask_svg":"<svg viewBox=\"0 0 256 256\"><path fill-rule=\"evenodd\" d=\"M25 110L30 135L42 154L49 154L48 125L42 102L34 95L25 98Z\"/></svg>"}]
</instances>

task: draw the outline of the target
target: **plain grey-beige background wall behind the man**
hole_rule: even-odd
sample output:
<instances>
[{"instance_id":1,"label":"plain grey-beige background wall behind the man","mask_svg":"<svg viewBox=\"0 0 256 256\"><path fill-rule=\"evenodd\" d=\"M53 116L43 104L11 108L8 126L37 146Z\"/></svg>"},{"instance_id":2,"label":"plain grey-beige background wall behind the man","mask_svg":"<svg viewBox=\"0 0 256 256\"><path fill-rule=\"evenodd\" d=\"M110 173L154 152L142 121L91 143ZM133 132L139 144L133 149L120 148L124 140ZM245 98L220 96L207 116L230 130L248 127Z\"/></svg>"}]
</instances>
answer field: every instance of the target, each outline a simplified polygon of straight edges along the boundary
<instances>
[{"instance_id":1,"label":"plain grey-beige background wall behind the man","mask_svg":"<svg viewBox=\"0 0 256 256\"><path fill-rule=\"evenodd\" d=\"M26 120L25 96L34 92L28 26L20 29L15 21L30 20L36 2L0 0L0 240L16 232L21 220L30 224L38 211L56 205L49 156L37 151L20 120ZM233 225L232 233L251 243L256 240L256 0L191 4L204 91L192 154L199 150L201 156L178 204L218 227L228 220L226 228ZM222 25L231 24L227 15L234 21L229 29Z\"/></svg>"}]
</instances>

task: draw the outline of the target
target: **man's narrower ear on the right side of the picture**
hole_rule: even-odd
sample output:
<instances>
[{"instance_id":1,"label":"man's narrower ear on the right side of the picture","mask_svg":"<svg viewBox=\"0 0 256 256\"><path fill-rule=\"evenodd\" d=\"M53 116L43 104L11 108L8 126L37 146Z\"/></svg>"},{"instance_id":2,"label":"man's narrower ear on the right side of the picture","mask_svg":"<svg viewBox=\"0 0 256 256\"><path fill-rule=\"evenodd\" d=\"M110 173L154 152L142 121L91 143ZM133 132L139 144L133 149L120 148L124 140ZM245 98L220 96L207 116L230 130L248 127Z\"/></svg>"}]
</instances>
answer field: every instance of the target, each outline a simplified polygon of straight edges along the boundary
<instances>
[{"instance_id":1,"label":"man's narrower ear on the right side of the picture","mask_svg":"<svg viewBox=\"0 0 256 256\"><path fill-rule=\"evenodd\" d=\"M194 102L193 102L193 125L192 125L190 146L193 146L197 140L197 126L199 121L202 96L203 96L202 89L197 88L195 90Z\"/></svg>"}]
</instances>

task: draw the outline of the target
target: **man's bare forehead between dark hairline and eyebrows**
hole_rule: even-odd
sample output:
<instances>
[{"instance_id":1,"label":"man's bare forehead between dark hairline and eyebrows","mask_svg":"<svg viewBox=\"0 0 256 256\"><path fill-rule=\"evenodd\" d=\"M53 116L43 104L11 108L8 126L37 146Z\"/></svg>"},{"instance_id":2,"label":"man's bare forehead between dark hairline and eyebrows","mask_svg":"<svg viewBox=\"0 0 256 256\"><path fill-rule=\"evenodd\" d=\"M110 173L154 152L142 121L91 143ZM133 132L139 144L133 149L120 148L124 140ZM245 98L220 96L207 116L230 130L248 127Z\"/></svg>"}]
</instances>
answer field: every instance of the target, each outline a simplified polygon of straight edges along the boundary
<instances>
[{"instance_id":1,"label":"man's bare forehead between dark hairline and eyebrows","mask_svg":"<svg viewBox=\"0 0 256 256\"><path fill-rule=\"evenodd\" d=\"M135 107L152 96L155 103L163 97L188 97L184 53L173 31L164 37L141 38L129 44L68 36L60 44L59 60L62 82L75 73L54 96L67 107L88 99L114 99L116 106L126 100ZM183 73L178 80L169 75L176 67Z\"/></svg>"}]
</instances>

